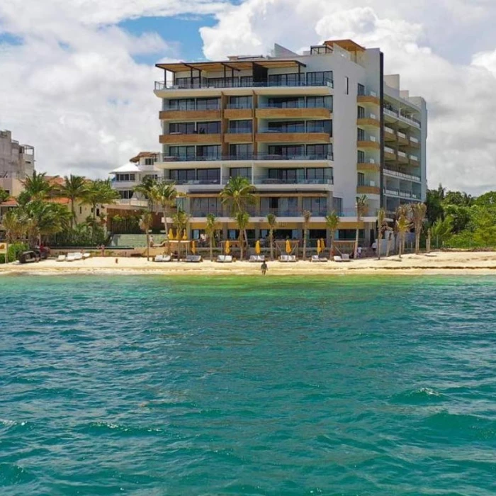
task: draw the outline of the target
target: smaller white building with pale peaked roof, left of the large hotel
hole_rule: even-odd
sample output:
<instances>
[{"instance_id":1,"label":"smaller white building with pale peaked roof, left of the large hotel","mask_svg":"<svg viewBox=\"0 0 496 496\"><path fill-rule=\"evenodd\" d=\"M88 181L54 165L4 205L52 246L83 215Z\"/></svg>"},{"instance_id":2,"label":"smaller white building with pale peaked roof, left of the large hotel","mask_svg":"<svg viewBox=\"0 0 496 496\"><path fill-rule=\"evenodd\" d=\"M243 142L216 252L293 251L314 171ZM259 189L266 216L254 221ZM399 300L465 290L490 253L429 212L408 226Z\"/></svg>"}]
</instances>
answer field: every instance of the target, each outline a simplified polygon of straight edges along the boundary
<instances>
[{"instance_id":1,"label":"smaller white building with pale peaked roof, left of the large hotel","mask_svg":"<svg viewBox=\"0 0 496 496\"><path fill-rule=\"evenodd\" d=\"M134 188L145 179L145 176L152 176L154 179L163 176L163 171L155 167L158 159L158 153L140 152L136 157L130 159L128 164L111 171L110 174L113 174L112 187L120 194L118 206L136 208L147 205L146 199L136 193Z\"/></svg>"}]
</instances>

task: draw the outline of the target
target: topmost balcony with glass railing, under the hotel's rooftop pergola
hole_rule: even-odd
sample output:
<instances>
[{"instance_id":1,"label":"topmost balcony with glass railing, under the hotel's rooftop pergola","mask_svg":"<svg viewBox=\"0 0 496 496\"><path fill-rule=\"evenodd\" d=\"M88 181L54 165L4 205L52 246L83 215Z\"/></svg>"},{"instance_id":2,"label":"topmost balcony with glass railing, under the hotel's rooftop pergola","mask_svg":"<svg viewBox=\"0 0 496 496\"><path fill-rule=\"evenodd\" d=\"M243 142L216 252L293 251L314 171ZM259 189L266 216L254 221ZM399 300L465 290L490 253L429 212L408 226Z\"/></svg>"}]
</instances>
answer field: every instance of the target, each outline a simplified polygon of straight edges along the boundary
<instances>
[{"instance_id":1,"label":"topmost balcony with glass railing, under the hotel's rooftop pergola","mask_svg":"<svg viewBox=\"0 0 496 496\"><path fill-rule=\"evenodd\" d=\"M297 75L297 74L295 74ZM167 81L155 81L155 91L177 90L177 89L225 89L225 88L274 88L274 87L308 87L308 86L327 86L334 88L332 79L318 79L316 81L306 81L305 74L301 74L300 81L269 81L263 79L261 81L243 81L237 77L215 78L215 84L208 81L207 78L202 81L187 81L184 83L174 84Z\"/></svg>"}]
</instances>

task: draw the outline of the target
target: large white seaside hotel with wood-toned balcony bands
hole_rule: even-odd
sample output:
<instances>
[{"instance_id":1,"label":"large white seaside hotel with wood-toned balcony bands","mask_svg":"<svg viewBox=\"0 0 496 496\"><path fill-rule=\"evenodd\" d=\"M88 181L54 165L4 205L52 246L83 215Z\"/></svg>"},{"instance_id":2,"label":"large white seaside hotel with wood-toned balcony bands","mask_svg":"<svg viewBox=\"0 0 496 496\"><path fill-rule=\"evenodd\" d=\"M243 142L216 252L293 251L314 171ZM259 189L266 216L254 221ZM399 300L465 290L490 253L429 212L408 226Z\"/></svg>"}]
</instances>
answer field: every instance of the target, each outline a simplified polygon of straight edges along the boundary
<instances>
[{"instance_id":1,"label":"large white seaside hotel with wood-toned balcony bands","mask_svg":"<svg viewBox=\"0 0 496 496\"><path fill-rule=\"evenodd\" d=\"M270 57L157 64L162 154L154 167L174 181L193 236L213 213L224 236L236 226L219 193L244 176L257 191L249 237L264 237L266 215L279 234L325 237L325 215L339 213L339 239L362 231L370 243L376 213L426 195L427 109L383 74L383 53L351 40L327 41L298 55L276 45ZM117 171L115 171L117 172ZM368 212L356 218L356 197ZM328 240L329 241L329 240Z\"/></svg>"}]
</instances>

